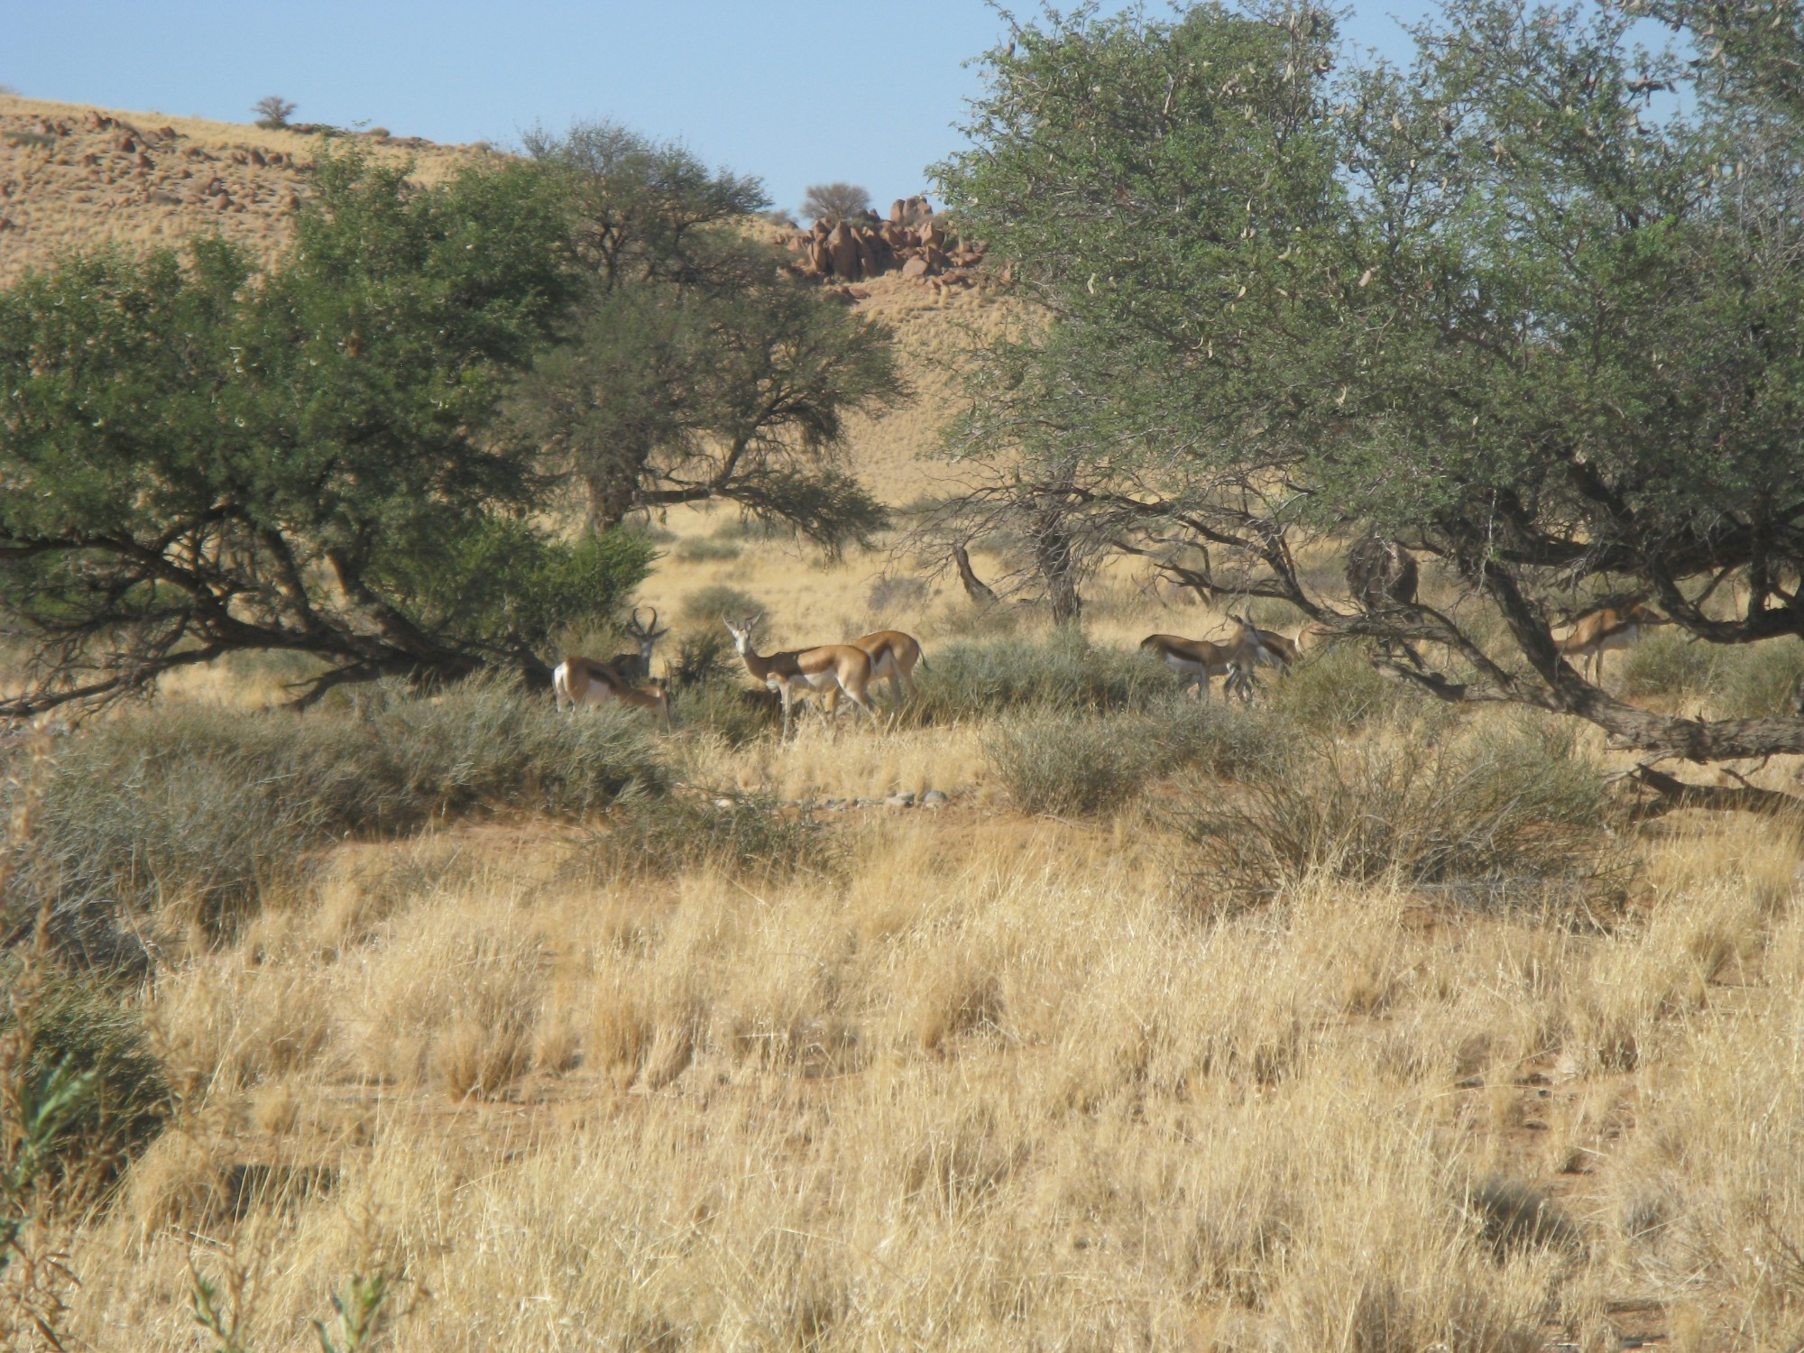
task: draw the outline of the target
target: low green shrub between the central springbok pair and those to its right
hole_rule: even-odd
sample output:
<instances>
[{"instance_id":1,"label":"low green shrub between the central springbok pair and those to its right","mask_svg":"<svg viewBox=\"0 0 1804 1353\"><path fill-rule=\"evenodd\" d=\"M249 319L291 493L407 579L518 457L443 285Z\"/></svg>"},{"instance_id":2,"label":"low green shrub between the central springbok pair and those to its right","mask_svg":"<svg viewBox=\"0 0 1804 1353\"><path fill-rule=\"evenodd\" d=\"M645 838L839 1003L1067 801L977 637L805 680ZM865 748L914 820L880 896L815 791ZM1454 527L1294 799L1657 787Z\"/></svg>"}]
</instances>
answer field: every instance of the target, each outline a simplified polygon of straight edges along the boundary
<instances>
[{"instance_id":1,"label":"low green shrub between the central springbok pair and those to its right","mask_svg":"<svg viewBox=\"0 0 1804 1353\"><path fill-rule=\"evenodd\" d=\"M909 718L943 723L1010 709L1146 709L1176 691L1171 673L1133 649L1093 648L1077 631L949 644L918 669Z\"/></svg>"}]
</instances>

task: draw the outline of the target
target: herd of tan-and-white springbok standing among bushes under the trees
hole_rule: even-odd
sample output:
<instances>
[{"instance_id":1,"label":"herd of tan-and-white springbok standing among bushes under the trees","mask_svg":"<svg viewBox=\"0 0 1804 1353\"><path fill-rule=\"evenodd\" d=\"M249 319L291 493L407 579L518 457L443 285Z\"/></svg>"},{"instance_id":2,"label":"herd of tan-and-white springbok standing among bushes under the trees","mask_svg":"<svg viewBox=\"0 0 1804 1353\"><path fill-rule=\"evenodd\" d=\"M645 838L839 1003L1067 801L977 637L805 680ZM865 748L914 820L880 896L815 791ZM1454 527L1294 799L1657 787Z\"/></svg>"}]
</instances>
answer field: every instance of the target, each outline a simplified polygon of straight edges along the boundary
<instances>
[{"instance_id":1,"label":"herd of tan-and-white springbok standing among bushes under the trees","mask_svg":"<svg viewBox=\"0 0 1804 1353\"><path fill-rule=\"evenodd\" d=\"M904 691L907 698L915 695L915 667L925 667L927 660L920 651L920 640L900 630L879 630L850 644L821 644L817 648L794 648L783 653L759 653L754 648L752 631L763 612L738 624L722 617L722 624L732 635L732 646L752 680L783 700L783 738L794 731L796 702L819 693L828 714L839 707L844 695L877 725L877 705L871 700L870 686L877 680L889 682L891 704L900 709ZM1207 698L1209 680L1223 676L1221 696L1252 700L1259 667L1274 667L1279 675L1290 675L1292 667L1302 660L1302 653L1324 646L1335 639L1335 630L1326 624L1304 624L1295 639L1286 639L1272 630L1259 630L1247 615L1229 612L1236 631L1227 642L1209 639L1180 639L1178 635L1147 635L1140 640L1140 651L1156 657L1178 675L1178 689L1194 686L1198 696ZM651 651L669 630L658 630L658 613L640 622L639 608L626 626L628 637L637 644L637 651L617 653L606 662L595 658L570 657L557 664L552 675L552 691L557 709L577 709L579 705L606 705L619 702L639 709L651 709L669 725L669 693L664 684L649 682ZM1568 658L1577 658L1580 669L1591 680L1604 676L1604 653L1613 648L1627 648L1642 633L1656 624L1671 621L1643 604L1600 606L1586 612L1573 622L1569 635L1559 640L1559 649ZM642 686L635 682L646 682Z\"/></svg>"}]
</instances>

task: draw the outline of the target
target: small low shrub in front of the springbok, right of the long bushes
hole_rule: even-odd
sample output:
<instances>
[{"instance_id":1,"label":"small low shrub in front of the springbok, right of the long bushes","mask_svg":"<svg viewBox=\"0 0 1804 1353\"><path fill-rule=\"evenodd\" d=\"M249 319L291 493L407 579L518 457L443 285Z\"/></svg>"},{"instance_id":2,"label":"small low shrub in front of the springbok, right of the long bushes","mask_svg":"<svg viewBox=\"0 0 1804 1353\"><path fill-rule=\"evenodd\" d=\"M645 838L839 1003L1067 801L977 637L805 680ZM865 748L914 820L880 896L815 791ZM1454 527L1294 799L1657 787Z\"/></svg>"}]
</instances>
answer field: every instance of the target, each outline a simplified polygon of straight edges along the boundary
<instances>
[{"instance_id":1,"label":"small low shrub in front of the springbok, right of the long bushes","mask_svg":"<svg viewBox=\"0 0 1804 1353\"><path fill-rule=\"evenodd\" d=\"M821 823L769 796L707 792L621 805L606 828L588 833L565 877L612 886L704 866L741 879L832 873L841 851Z\"/></svg>"}]
</instances>

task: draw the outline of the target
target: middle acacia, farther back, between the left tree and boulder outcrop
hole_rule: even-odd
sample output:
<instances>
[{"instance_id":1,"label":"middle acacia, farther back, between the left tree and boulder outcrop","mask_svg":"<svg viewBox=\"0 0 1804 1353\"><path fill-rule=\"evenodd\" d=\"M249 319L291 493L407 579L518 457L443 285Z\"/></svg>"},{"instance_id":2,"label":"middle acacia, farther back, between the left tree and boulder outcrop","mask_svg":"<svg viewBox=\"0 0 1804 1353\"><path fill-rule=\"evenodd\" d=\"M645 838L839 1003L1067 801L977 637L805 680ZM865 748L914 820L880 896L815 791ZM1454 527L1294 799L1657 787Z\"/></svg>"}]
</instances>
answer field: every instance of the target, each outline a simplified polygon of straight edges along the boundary
<instances>
[{"instance_id":1,"label":"middle acacia, farther back, between the left tree and boulder outcrop","mask_svg":"<svg viewBox=\"0 0 1804 1353\"><path fill-rule=\"evenodd\" d=\"M512 422L583 483L590 525L720 498L828 550L880 529L841 453L851 413L907 393L891 337L747 238L763 188L610 124L529 150L568 184L590 290Z\"/></svg>"}]
</instances>

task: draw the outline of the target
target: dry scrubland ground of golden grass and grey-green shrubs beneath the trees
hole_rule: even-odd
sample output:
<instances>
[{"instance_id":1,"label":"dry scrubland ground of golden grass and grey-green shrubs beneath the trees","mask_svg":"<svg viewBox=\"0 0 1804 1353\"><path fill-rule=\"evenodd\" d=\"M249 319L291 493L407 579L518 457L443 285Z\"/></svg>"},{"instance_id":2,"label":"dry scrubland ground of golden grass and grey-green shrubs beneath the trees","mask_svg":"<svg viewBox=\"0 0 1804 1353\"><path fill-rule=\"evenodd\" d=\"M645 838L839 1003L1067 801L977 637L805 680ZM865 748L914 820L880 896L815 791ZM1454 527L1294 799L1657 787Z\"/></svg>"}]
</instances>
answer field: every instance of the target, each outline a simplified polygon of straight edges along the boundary
<instances>
[{"instance_id":1,"label":"dry scrubland ground of golden grass and grey-green shrubs beneath the trees","mask_svg":"<svg viewBox=\"0 0 1804 1353\"><path fill-rule=\"evenodd\" d=\"M922 366L945 312L1014 323L864 303ZM906 503L933 404L900 419L857 462ZM1797 1344L1795 826L1631 824L1591 732L1355 653L1250 713L1178 700L1131 646L1223 619L1128 570L1082 648L906 559L658 530L660 657L725 608L776 642L893 624L922 707L788 747L720 678L671 734L494 687L247 718L298 673L236 662L40 765L14 882L141 963L58 999L141 1017L133 1084L173 1104L34 1236L83 1283L70 1348L193 1348L197 1274L244 1348L312 1348L377 1270L422 1349ZM1689 713L1799 669L1671 635L1609 662Z\"/></svg>"}]
</instances>

